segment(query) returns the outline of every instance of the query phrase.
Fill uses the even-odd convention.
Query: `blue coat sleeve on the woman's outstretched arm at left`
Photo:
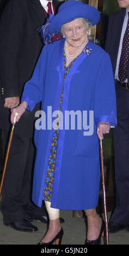
[[[28,103],[27,109],[32,111],[36,103],[42,101],[44,86],[45,86],[45,72],[47,65],[47,46],[41,51],[38,62],[36,63],[32,78],[24,85],[21,101]]]

